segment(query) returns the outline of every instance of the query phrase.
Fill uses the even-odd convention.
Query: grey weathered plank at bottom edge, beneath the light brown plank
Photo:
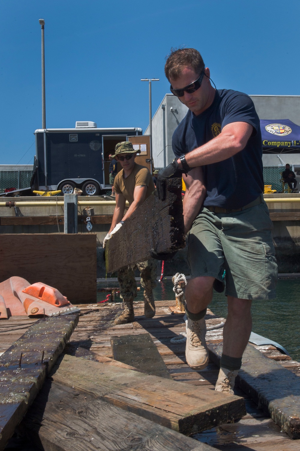
[[[209,445],[47,380],[18,428],[44,451],[209,451]]]

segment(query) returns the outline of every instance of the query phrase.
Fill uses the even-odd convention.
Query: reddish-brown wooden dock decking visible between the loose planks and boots
[[[185,343],[170,342],[171,338],[185,331],[183,314],[172,314],[171,311],[175,306],[175,300],[156,301],[155,304],[154,318],[145,318],[143,303],[136,302],[134,305],[136,321],[117,326],[114,325],[114,318],[121,311],[122,304],[81,305],[79,324],[71,337],[68,352],[76,355],[76,349],[81,347],[93,351],[100,361],[101,359],[107,361],[113,358],[112,336],[149,333],[173,380],[197,386],[203,385],[214,390],[218,367],[210,362],[202,371],[192,370],[186,364]],[[208,327],[217,325],[223,320],[209,310],[205,319]],[[0,352],[8,349],[33,322],[34,320],[23,317],[11,317],[9,320],[0,322]],[[222,328],[207,331],[206,339],[209,343],[217,344],[222,341],[222,334]],[[281,354],[274,346],[255,345],[255,348],[300,376],[300,363]],[[292,440],[286,433],[281,433],[273,420],[259,410],[243,391],[235,389],[235,393],[244,396],[247,414],[238,423],[222,424],[218,428],[196,434],[194,438],[223,451],[296,451],[300,449],[300,440]]]

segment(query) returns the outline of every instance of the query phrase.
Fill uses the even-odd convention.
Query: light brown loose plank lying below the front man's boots
[[[59,359],[51,376],[186,435],[245,414],[238,396],[68,355]]]

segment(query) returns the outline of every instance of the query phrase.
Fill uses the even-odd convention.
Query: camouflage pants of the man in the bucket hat
[[[118,271],[118,281],[120,285],[120,297],[123,298],[124,301],[136,297],[136,280],[134,278],[136,268],[141,272],[141,286],[145,289],[147,294],[149,293],[151,296],[152,290],[156,286],[157,260],[154,260],[153,258],[120,269]]]

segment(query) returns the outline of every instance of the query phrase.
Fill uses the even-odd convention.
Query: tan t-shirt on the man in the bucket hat
[[[134,201],[133,193],[136,186],[147,186],[145,199],[155,191],[150,171],[145,166],[135,163],[131,174],[126,179],[124,179],[123,174],[124,170],[122,169],[115,176],[114,190],[118,194],[123,194],[124,198],[129,202],[129,205]]]

